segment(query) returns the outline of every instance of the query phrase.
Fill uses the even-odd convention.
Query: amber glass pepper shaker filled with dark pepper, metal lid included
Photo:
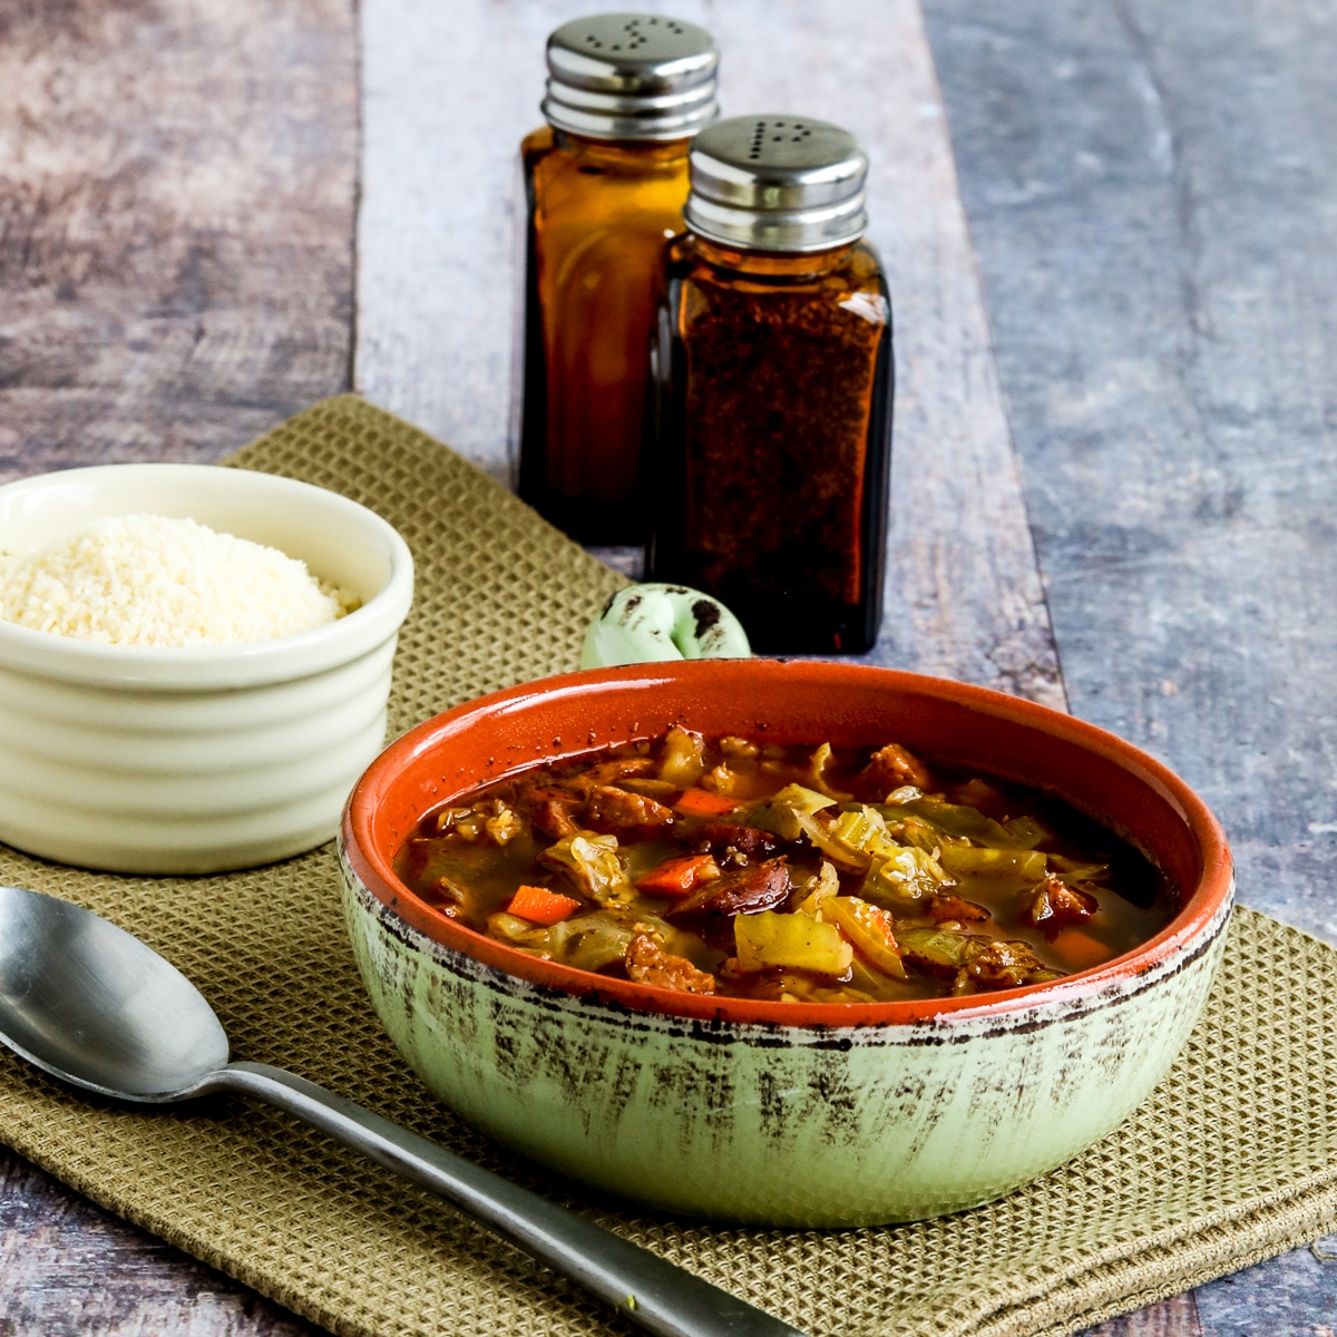
[[[868,650],[882,612],[892,312],[868,159],[804,116],[691,147],[654,350],[651,579],[722,599],[770,654]]]

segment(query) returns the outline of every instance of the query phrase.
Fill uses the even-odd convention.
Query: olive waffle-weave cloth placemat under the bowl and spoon
[[[393,731],[575,666],[622,578],[444,447],[352,396],[230,461],[344,492],[413,548]],[[203,878],[82,873],[0,846],[0,881],[146,939],[277,1063],[568,1202],[813,1337],[1059,1334],[1313,1239],[1337,1221],[1337,952],[1235,915],[1207,1013],[1122,1128],[1001,1202],[846,1231],[722,1230],[595,1201],[437,1106],[384,1038],[332,848]],[[634,1329],[435,1198],[267,1107],[143,1112],[0,1048],[0,1139],[88,1197],[349,1337]]]

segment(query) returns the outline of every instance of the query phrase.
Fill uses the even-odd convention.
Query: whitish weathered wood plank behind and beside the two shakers
[[[511,469],[516,152],[539,120],[547,35],[587,8],[361,7],[356,385],[497,477]],[[1063,706],[916,0],[667,8],[715,35],[726,115],[822,116],[872,158],[869,235],[890,275],[897,402],[888,607],[866,658]]]

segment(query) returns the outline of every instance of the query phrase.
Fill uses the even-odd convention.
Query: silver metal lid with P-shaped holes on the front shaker
[[[810,116],[731,116],[689,156],[683,217],[701,237],[743,250],[812,251],[868,227],[868,155],[840,126]]]

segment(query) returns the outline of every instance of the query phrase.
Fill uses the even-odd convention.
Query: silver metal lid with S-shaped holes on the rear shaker
[[[656,13],[600,13],[548,37],[543,115],[594,139],[686,139],[719,115],[719,52],[705,28]]]

